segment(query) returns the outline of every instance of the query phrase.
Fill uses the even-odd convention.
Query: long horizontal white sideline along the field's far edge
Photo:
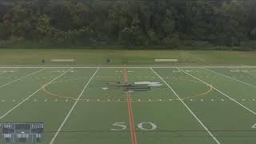
[[[50,69],[65,69],[65,68],[75,68],[75,69],[120,69],[122,66],[20,66],[20,67],[1,67],[0,68],[19,68],[19,69],[36,69],[36,68],[50,68]],[[127,66],[126,68],[130,69],[150,69],[150,68],[204,68],[204,67],[212,67],[212,68],[256,68],[256,66]]]

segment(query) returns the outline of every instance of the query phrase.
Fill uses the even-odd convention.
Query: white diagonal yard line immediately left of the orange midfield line
[[[95,70],[94,74],[90,77],[90,80],[86,83],[86,86],[82,89],[82,92],[79,94],[77,100],[74,102],[74,105],[71,107],[69,113],[66,115],[66,118],[64,119],[64,121],[62,122],[61,126],[59,126],[58,131],[54,134],[54,138],[51,139],[50,144],[54,143],[54,140],[58,137],[58,133],[62,130],[62,127],[65,125],[66,120],[70,117],[70,114],[72,113],[72,111],[74,110],[74,107],[77,105],[79,99],[82,97],[82,94],[84,93],[84,91],[86,90],[86,87],[89,85],[90,81],[94,78],[94,75],[98,72],[99,67],[97,70]]]

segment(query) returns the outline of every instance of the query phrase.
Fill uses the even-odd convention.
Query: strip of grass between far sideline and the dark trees
[[[74,58],[76,65],[256,65],[255,51],[0,49],[0,65],[38,65],[42,59],[48,65],[62,64],[50,62],[52,58]],[[155,58],[179,62],[156,63]]]

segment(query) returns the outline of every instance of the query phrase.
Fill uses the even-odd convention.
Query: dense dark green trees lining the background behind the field
[[[0,0],[0,45],[256,49],[255,14],[255,0]]]

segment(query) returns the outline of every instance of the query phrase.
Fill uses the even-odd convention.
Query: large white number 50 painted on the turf
[[[112,126],[114,126],[114,128],[110,130],[113,130],[113,131],[121,131],[121,130],[127,129],[126,122],[114,122]],[[155,130],[158,128],[158,126],[155,125],[153,122],[140,122],[138,123],[137,126],[139,129],[146,130],[146,131]]]

